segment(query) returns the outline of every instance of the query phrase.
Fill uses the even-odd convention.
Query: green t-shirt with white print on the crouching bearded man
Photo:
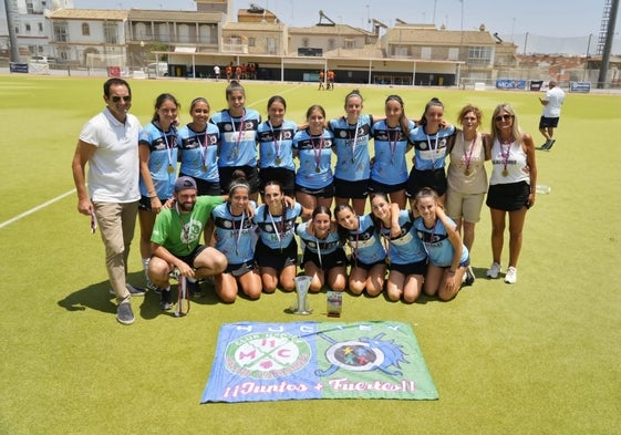
[[[190,255],[199,245],[211,210],[220,204],[220,196],[199,196],[192,213],[179,214],[175,208],[163,209],[155,219],[151,241],[168,249],[175,257]]]

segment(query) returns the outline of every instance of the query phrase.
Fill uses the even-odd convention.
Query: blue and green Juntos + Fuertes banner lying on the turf
[[[407,323],[228,323],[201,403],[308,398],[436,400]]]

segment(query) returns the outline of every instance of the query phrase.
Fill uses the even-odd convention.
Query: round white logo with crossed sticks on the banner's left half
[[[227,345],[226,367],[245,377],[271,380],[302,370],[310,361],[309,344],[287,333],[253,333]]]

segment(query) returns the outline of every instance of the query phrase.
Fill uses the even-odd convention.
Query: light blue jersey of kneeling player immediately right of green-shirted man
[[[257,207],[250,201],[252,207]],[[255,226],[248,215],[232,216],[228,203],[220,204],[211,211],[216,227],[216,249],[222,252],[229,265],[241,265],[255,258]]]

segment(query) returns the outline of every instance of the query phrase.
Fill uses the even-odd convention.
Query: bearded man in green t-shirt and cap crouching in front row
[[[190,293],[200,294],[197,281],[221,273],[227,267],[227,259],[220,251],[199,244],[211,210],[224,198],[197,197],[196,182],[190,177],[177,178],[174,190],[174,206],[157,215],[151,236],[148,277],[163,289],[159,301],[163,310],[173,308],[169,275],[174,269],[187,278]],[[207,229],[206,234],[211,232]]]

